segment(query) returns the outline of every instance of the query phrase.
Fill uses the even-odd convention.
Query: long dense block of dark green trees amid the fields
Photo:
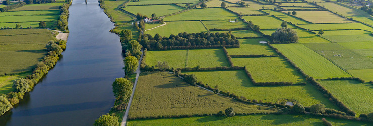
[[[167,47],[185,47],[202,46],[220,46],[220,45],[239,45],[239,41],[229,33],[179,33],[171,34],[168,38],[161,37],[159,34],[152,37],[149,34],[140,35],[138,42],[148,50],[164,50]],[[183,48],[180,48],[183,49]]]

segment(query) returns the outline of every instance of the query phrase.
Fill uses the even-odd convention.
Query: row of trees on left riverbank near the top
[[[57,27],[60,30],[68,30],[68,16],[69,16],[69,6],[71,5],[71,2],[68,2],[67,4],[63,4],[59,7],[59,19],[57,22]]]

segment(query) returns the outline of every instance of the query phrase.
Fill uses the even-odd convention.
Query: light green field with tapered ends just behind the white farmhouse
[[[153,13],[155,13],[157,16],[163,16],[184,10],[184,8],[176,5],[126,6],[126,8],[123,9],[135,15],[140,13],[148,17],[151,17]]]

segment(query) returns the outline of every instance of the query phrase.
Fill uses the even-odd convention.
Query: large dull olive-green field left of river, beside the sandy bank
[[[0,34],[13,34],[0,36],[0,64],[4,65],[0,68],[0,75],[31,71],[45,56],[45,45],[54,40],[46,29],[0,30]]]

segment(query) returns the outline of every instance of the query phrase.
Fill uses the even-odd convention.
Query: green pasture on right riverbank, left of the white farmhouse
[[[118,9],[125,1],[105,1],[105,8],[107,13],[114,18],[114,22],[117,25],[126,24],[128,21],[132,21],[135,17]]]

